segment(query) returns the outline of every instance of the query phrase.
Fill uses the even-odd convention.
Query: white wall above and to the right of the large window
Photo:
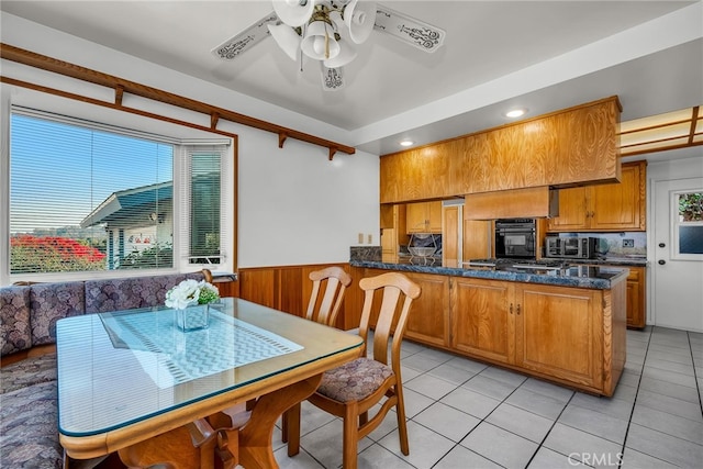
[[[249,97],[98,44],[5,13],[2,14],[1,26],[2,42],[7,44],[235,112],[245,113],[246,110],[260,109],[269,115],[268,120],[274,121],[270,116],[280,116],[280,120],[276,119],[277,124],[347,144],[345,132],[324,122],[257,102]],[[109,89],[100,89],[85,82],[71,82],[69,79],[8,60],[2,60],[2,75],[46,85],[60,83],[62,89],[108,101],[113,99],[113,91]],[[127,100],[131,101],[127,103]],[[72,108],[80,108],[81,113],[89,114],[83,116],[99,122],[120,123],[133,127],[142,125],[140,118],[133,115],[114,113],[104,108],[86,111],[85,104],[3,85],[0,115],[3,163],[7,163],[5,136],[10,102],[64,113],[70,113]],[[140,102],[130,97],[125,97],[125,105],[154,112],[164,112],[166,108],[158,103]],[[182,120],[193,120],[201,125],[209,125],[209,118],[202,114],[182,110],[168,112],[175,112]],[[256,116],[266,119],[261,114]],[[365,234],[365,241],[366,235],[371,234],[373,245],[380,243],[378,155],[364,152],[350,156],[336,154],[330,161],[327,149],[323,147],[289,138],[283,148],[278,148],[278,135],[226,121],[221,121],[217,129],[239,136],[239,267],[347,261],[349,246],[358,244],[358,233]],[[168,132],[168,126],[165,126],[164,132]],[[7,227],[7,178],[0,178],[0,215],[2,225]],[[0,236],[3,234],[2,231],[0,230]],[[5,236],[2,238],[7,239]],[[0,254],[7,255],[7,246],[2,246]],[[0,273],[2,283],[5,283],[5,276],[7,272]]]

